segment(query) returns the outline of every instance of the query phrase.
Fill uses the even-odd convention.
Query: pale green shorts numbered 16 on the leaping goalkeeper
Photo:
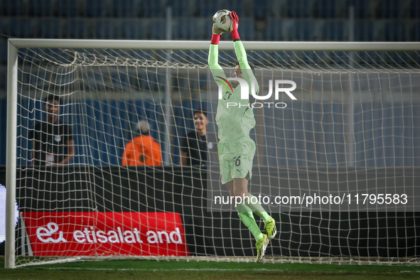
[[[217,144],[222,184],[235,178],[252,178],[255,143],[250,138]]]

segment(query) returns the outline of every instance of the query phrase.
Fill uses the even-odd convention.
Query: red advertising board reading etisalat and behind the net
[[[23,212],[35,256],[189,256],[173,212]]]

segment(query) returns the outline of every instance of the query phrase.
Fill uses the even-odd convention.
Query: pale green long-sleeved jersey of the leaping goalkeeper
[[[218,45],[211,44],[208,55],[208,64],[213,78],[217,86],[222,87],[222,98],[219,99],[216,113],[216,124],[219,129],[218,137],[221,142],[237,141],[244,137],[249,138],[249,131],[255,126],[254,112],[252,112],[251,104],[249,104],[249,95],[251,95],[252,84],[254,84],[254,93],[258,95],[259,85],[249,67],[247,53],[242,41],[235,41],[233,45],[242,75],[248,84],[247,99],[241,99],[241,85],[235,88],[230,87],[232,83],[227,81],[225,72],[218,63]]]

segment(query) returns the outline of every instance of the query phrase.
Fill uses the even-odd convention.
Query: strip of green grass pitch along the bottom
[[[115,260],[4,269],[4,257],[0,262],[0,279],[420,279],[415,265]]]

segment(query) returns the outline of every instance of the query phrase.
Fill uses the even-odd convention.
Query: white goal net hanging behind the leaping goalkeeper
[[[15,231],[7,215],[6,266],[254,262],[220,183],[210,43],[10,42],[6,187],[19,219]],[[244,45],[260,95],[271,92],[249,105],[249,191],[278,229],[264,262],[418,262],[419,45]],[[231,77],[232,43],[220,43],[219,63]],[[180,166],[198,146],[185,141],[198,109],[207,159]]]

